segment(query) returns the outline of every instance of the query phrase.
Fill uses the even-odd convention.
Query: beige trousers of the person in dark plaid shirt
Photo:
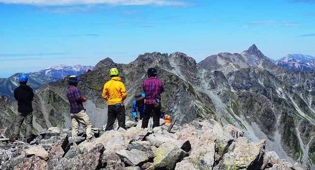
[[[77,138],[78,137],[78,132],[79,132],[79,124],[83,124],[86,126],[86,139],[92,138],[92,125],[90,122],[89,116],[85,113],[84,110],[81,110],[81,112],[73,114],[70,113],[71,116],[71,123],[72,123],[72,138]]]

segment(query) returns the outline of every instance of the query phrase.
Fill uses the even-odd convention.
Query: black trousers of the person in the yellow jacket
[[[116,117],[118,119],[118,128],[125,128],[126,129],[126,113],[125,113],[125,106],[115,106],[109,105],[108,106],[108,113],[107,113],[107,125],[105,131],[113,129],[113,125],[115,123]]]

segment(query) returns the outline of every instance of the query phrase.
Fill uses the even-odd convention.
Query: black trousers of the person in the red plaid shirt
[[[154,104],[146,104],[144,113],[143,113],[141,128],[148,128],[151,112],[153,113],[153,127],[152,128],[160,126],[161,109],[154,108]]]

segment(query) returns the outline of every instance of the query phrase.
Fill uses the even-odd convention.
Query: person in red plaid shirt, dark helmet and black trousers
[[[148,128],[148,123],[150,119],[150,113],[153,112],[153,127],[159,126],[159,118],[161,115],[161,108],[155,107],[156,102],[161,102],[161,93],[164,91],[164,86],[162,81],[156,78],[157,70],[155,68],[150,68],[147,71],[148,78],[143,82],[143,91],[145,94],[145,109],[142,119],[142,128]]]

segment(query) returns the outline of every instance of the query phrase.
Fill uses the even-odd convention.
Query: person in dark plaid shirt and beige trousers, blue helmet
[[[69,77],[69,89],[67,91],[67,98],[70,103],[70,116],[72,123],[72,138],[78,137],[79,123],[86,126],[86,140],[88,142],[92,141],[92,125],[89,116],[85,113],[83,108],[83,102],[86,101],[85,98],[81,97],[81,92],[79,90],[78,83],[79,79],[77,76],[72,75]]]

